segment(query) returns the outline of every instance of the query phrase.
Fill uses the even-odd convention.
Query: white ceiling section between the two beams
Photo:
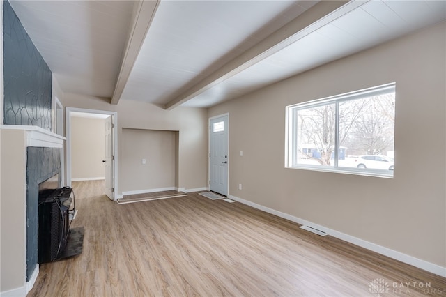
[[[161,1],[122,98],[165,104],[315,3]]]

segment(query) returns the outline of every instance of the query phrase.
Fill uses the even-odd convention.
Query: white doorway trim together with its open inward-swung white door
[[[102,167],[105,167],[103,172],[103,178],[105,178],[105,195],[109,199],[117,199],[117,126],[116,124],[116,112],[108,112],[94,109],[79,109],[79,108],[66,108],[66,138],[67,138],[67,166],[66,166],[66,178],[67,185],[71,186],[73,181],[73,155],[75,153],[76,147],[73,146],[73,128],[77,122],[75,119],[79,116],[87,119],[102,119],[104,125],[102,125],[102,140],[103,140],[103,160],[96,160],[101,162]],[[108,123],[108,125],[107,125]],[[88,144],[86,144],[88,145]],[[78,148],[79,149],[79,148]],[[102,158],[101,158],[102,159]],[[95,161],[95,162],[96,162]],[[103,166],[105,163],[105,166]]]

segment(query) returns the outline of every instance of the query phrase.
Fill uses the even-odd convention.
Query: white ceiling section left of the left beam
[[[10,1],[63,91],[111,97],[132,1]]]

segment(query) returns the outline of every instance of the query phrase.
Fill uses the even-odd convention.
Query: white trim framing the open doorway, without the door
[[[114,116],[114,129],[113,129],[113,151],[114,160],[112,162],[113,167],[113,200],[118,198],[118,112],[109,112],[107,110],[96,110],[96,109],[83,109],[76,107],[66,107],[66,183],[71,186],[71,114],[72,112],[82,112],[84,114],[105,114],[109,116]]]

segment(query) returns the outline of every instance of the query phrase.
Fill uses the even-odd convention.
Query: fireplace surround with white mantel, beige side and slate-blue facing
[[[25,125],[0,125],[0,132],[1,142],[8,144],[0,152],[0,218],[11,226],[0,234],[1,292],[26,296],[39,273],[38,184],[59,174],[64,185],[65,137]]]

